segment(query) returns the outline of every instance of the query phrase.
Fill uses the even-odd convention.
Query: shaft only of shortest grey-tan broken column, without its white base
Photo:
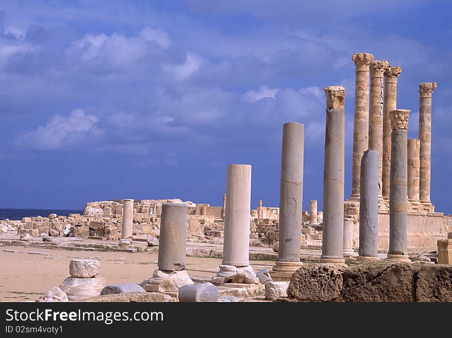
[[[185,270],[186,224],[187,205],[185,203],[162,204],[159,237],[159,270]]]

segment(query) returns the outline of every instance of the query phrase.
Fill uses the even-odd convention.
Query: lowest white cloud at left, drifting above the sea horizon
[[[16,140],[27,148],[52,150],[69,149],[99,138],[103,129],[96,126],[98,118],[75,109],[69,116],[54,115],[45,126],[37,127]]]

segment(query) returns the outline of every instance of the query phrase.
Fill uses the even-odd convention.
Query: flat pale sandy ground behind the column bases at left
[[[148,279],[157,269],[158,254],[1,247],[0,302],[35,301],[69,276],[72,258],[100,260],[99,276],[105,277],[109,285],[141,283]],[[186,257],[186,270],[191,276],[213,276],[220,264],[218,258]],[[270,269],[274,261],[251,261],[251,264],[256,271]]]

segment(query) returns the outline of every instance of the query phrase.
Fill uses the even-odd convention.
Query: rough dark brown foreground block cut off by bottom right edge
[[[416,302],[452,302],[452,266],[421,265],[416,274]]]

